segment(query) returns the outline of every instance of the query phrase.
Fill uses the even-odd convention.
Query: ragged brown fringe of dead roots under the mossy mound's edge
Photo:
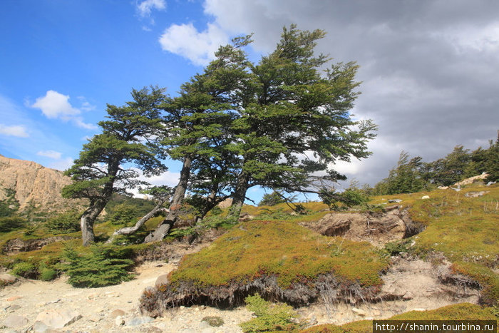
[[[165,309],[180,305],[204,304],[215,307],[235,307],[245,304],[248,295],[260,294],[274,302],[304,305],[326,300],[328,302],[372,301],[379,287],[363,287],[359,283],[339,280],[334,275],[319,275],[314,281],[293,282],[288,288],[279,286],[276,275],[262,275],[251,281],[234,280],[226,285],[203,286],[193,281],[148,287],[140,297],[140,311],[153,317]]]

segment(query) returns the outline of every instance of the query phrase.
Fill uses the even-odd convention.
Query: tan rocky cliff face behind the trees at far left
[[[28,208],[44,212],[61,211],[84,204],[83,200],[61,197],[61,188],[70,183],[71,178],[61,171],[0,155],[0,200],[5,200],[9,192],[14,192],[20,212]]]

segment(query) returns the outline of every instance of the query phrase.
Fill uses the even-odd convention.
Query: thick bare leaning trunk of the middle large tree
[[[184,164],[182,165],[182,170],[180,170],[180,180],[175,188],[175,193],[173,193],[172,203],[170,204],[170,212],[168,215],[160,222],[158,227],[151,232],[147,237],[145,237],[144,242],[158,242],[163,240],[168,232],[173,227],[178,217],[178,210],[182,207],[182,200],[185,198],[185,192],[187,191],[187,184],[189,183],[190,177],[190,165],[192,164],[192,158],[187,156],[184,159]]]

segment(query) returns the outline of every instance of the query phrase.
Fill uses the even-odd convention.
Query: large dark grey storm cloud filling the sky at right
[[[379,125],[374,154],[350,170],[361,183],[386,177],[401,150],[434,160],[458,144],[487,146],[499,129],[499,1],[208,0],[205,9],[230,34],[254,32],[264,53],[295,23],[327,32],[319,51],[359,63],[354,113]]]

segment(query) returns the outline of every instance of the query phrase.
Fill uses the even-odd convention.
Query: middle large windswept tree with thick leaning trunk
[[[182,162],[180,180],[170,203],[170,212],[147,238],[161,240],[175,224],[187,188],[190,203],[199,218],[229,197],[225,190],[230,154],[220,146],[227,142],[232,109],[245,99],[247,59],[242,47],[251,36],[236,38],[221,46],[203,73],[181,87],[180,96],[163,103],[165,130],[162,145],[165,155]]]

